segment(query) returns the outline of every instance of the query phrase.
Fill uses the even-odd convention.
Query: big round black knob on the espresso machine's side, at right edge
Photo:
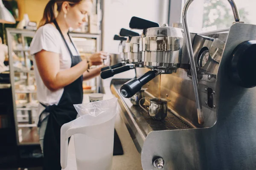
[[[256,41],[244,41],[232,52],[229,76],[236,84],[244,88],[256,86]]]

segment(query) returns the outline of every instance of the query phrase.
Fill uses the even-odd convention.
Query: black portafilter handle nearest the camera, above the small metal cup
[[[158,75],[157,70],[148,71],[137,79],[131,79],[121,86],[120,93],[125,98],[131,98],[142,86],[148,83],[151,79],[154,79]]]

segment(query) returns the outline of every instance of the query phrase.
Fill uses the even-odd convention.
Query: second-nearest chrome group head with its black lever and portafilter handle
[[[139,51],[139,40],[140,34],[137,32],[127,30],[122,28],[119,33],[120,37],[127,38],[125,44],[122,43],[122,65],[116,64],[110,67],[104,68],[101,72],[101,78],[107,79],[113,77],[115,74],[119,74],[130,69],[134,69],[135,77],[136,74],[136,67],[143,67],[142,63],[142,52]],[[120,46],[119,46],[120,49]],[[120,53],[121,54],[121,53]]]

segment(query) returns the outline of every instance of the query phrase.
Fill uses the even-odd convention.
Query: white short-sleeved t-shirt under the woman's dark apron
[[[66,40],[73,56],[80,55],[69,40]],[[71,56],[62,40],[61,34],[52,24],[46,24],[38,28],[30,45],[31,55],[41,50],[50,51],[59,54],[60,71],[71,67]],[[51,61],[49,61],[51,62]],[[37,85],[38,101],[44,105],[58,105],[64,88],[57,91],[50,91],[45,85],[38,72],[37,63],[34,58],[35,80]]]

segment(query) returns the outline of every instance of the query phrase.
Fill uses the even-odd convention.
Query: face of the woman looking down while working
[[[84,22],[88,22],[88,15],[92,8],[91,0],[82,0],[79,4],[70,7],[67,11],[67,24],[73,29],[81,27]]]

